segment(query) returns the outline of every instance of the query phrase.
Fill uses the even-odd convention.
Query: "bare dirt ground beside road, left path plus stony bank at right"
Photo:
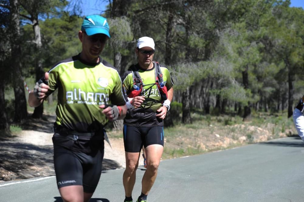
[[[22,125],[23,130],[14,137],[0,139],[0,182],[55,175],[52,144],[55,118],[49,115],[45,120],[29,120],[28,123]],[[175,128],[176,136],[164,138],[165,149],[178,151],[183,148],[208,152],[247,143],[263,142],[284,137],[288,133],[294,134],[294,131],[287,130],[286,133],[273,136],[273,128],[272,125],[264,128],[243,124],[223,128],[210,125],[203,129],[202,127],[187,128],[183,131],[185,128],[177,127]],[[179,135],[178,131],[182,131],[183,135]],[[247,135],[240,131],[246,131]],[[105,142],[103,170],[125,167],[123,139],[111,138],[111,135],[109,139],[112,148]],[[142,166],[141,155],[139,162]]]

